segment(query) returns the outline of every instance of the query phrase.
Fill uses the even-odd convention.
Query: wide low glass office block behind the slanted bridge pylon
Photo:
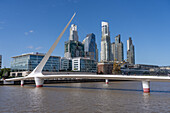
[[[12,57],[10,76],[27,76],[41,62],[45,54],[28,53]],[[50,56],[43,72],[48,74],[58,72],[60,69],[60,57]]]

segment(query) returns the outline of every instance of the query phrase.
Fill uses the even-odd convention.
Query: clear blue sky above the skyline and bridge
[[[101,21],[107,21],[111,42],[121,34],[125,58],[126,41],[132,37],[137,64],[170,65],[169,0],[0,0],[3,67],[10,67],[12,56],[46,53],[74,12],[79,41],[94,33],[99,53]],[[64,56],[68,38],[69,29],[53,55]]]

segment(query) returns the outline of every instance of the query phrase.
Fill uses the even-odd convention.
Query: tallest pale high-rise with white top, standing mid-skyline
[[[110,61],[110,31],[108,22],[102,22],[101,61]]]

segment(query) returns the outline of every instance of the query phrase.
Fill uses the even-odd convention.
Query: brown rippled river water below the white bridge
[[[0,86],[0,112],[122,113],[170,112],[170,83],[102,82]]]

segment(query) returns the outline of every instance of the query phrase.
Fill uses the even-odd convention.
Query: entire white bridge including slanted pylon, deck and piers
[[[114,80],[135,80],[135,81],[142,81],[142,86],[143,86],[143,91],[144,93],[149,93],[150,92],[150,81],[165,81],[165,82],[170,82],[170,77],[165,77],[165,76],[134,76],[134,75],[43,75],[42,70],[48,61],[49,57],[51,56],[52,52],[56,48],[58,42],[60,41],[61,37],[63,36],[64,32],[66,31],[67,27],[70,25],[71,21],[73,20],[74,15],[70,19],[70,21],[67,23],[66,27],[64,30],[61,32],[59,37],[56,39],[54,44],[51,46],[49,51],[46,53],[42,61],[38,64],[38,66],[26,77],[18,77],[18,78],[10,78],[4,80],[4,84],[7,84],[10,81],[21,81],[21,86],[24,85],[24,80],[26,79],[34,79],[36,87],[43,87],[44,79],[47,78],[86,78],[86,79],[105,79],[106,84],[109,83],[109,79],[114,79]]]

